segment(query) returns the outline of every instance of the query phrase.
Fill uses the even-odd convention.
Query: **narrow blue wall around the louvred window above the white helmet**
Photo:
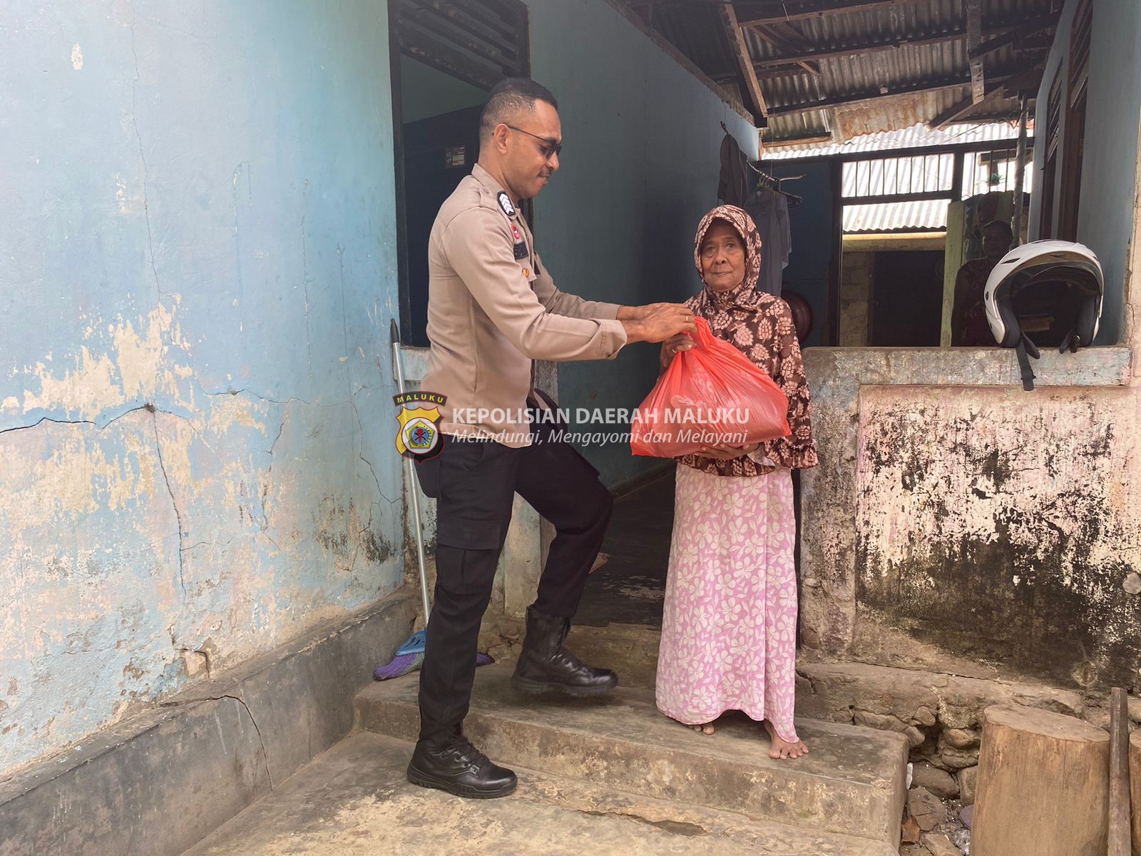
[[[1058,25],[1053,48],[1038,90],[1035,127],[1043,129],[1034,144],[1034,186],[1043,186],[1045,171],[1046,100],[1057,74],[1062,96],[1069,74],[1070,27],[1077,0],[1068,0]],[[1130,237],[1133,232],[1134,175],[1138,127],[1141,116],[1141,3],[1093,0],[1090,37],[1090,82],[1085,114],[1085,151],[1077,240],[1098,253],[1106,277],[1106,302],[1099,345],[1111,345],[1125,336],[1125,278]],[[1066,115],[1062,112],[1058,163],[1065,162]],[[1059,170],[1061,165],[1059,165]],[[1041,194],[1030,202],[1030,235],[1042,223]],[[1054,223],[1058,221],[1057,200]]]

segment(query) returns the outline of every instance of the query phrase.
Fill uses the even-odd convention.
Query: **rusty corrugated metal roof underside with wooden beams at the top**
[[[1052,0],[984,0],[982,38],[995,27],[1022,22],[1051,11]],[[795,9],[795,0],[785,8]],[[634,8],[641,8],[637,5]],[[736,92],[739,72],[717,3],[707,0],[654,3],[653,26],[693,59],[706,74]],[[738,18],[747,19],[746,3],[738,3]],[[784,64],[761,66],[758,74],[770,111],[766,137],[791,139],[831,135],[840,142],[876,131],[929,122],[970,92],[966,19],[961,0],[912,0],[856,11],[834,10],[817,17],[798,18],[764,27],[745,27],[744,35],[754,63],[820,50],[843,50],[853,46],[900,45],[880,50],[815,58],[812,71]],[[1015,51],[1010,45],[988,54],[984,70],[989,80],[1020,73],[1038,55]],[[962,81],[956,83],[955,81]],[[946,86],[933,91],[879,97],[922,86]],[[782,107],[807,106],[815,102],[866,96],[872,100],[830,105],[780,113]],[[1013,99],[993,100],[972,118],[1010,116]]]

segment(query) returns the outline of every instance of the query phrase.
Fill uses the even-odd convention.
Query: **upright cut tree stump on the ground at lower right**
[[[982,714],[972,856],[1104,856],[1109,735],[1061,713]]]

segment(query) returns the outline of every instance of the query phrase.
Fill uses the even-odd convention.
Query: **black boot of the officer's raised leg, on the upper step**
[[[511,686],[524,693],[560,689],[568,695],[601,695],[618,685],[609,669],[593,669],[563,647],[570,630],[568,619],[527,609],[527,638],[511,676]]]

